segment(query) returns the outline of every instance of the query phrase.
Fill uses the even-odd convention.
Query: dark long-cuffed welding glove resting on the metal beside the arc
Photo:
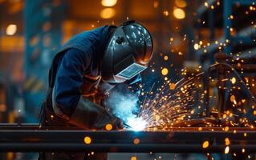
[[[79,98],[78,105],[71,114],[69,123],[85,129],[102,130],[107,124],[112,124],[113,130],[123,128],[123,124],[119,118],[114,117],[102,106],[99,106],[82,96]]]

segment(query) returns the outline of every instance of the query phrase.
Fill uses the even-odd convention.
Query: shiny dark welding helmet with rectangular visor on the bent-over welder
[[[101,65],[104,82],[120,83],[145,70],[152,58],[152,37],[135,21],[124,22],[112,34]]]

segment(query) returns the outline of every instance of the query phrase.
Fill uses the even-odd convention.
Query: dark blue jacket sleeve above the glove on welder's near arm
[[[63,55],[55,77],[53,107],[59,114],[71,115],[80,98],[83,73],[91,62],[89,54],[70,49]],[[58,113],[57,113],[58,114]]]

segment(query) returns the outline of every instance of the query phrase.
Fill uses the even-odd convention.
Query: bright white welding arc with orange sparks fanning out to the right
[[[203,42],[200,41],[199,44],[202,45]],[[128,118],[127,124],[132,127],[132,130],[172,130],[175,126],[193,126],[191,120],[205,118],[206,116],[203,104],[205,103],[206,96],[210,96],[209,98],[213,100],[217,99],[216,95],[209,95],[211,94],[210,90],[203,89],[202,80],[205,78],[205,72],[200,73],[200,70],[197,69],[197,74],[189,75],[187,74],[188,70],[184,68],[181,70],[181,73],[186,75],[187,78],[181,78],[178,82],[173,82],[173,80],[171,81],[165,76],[168,74],[168,71],[168,68],[161,68],[161,73],[166,78],[165,81],[162,84],[159,82],[159,85],[156,85],[158,82],[154,82],[150,90],[143,91],[144,99],[143,102],[140,102],[140,114],[137,117]],[[230,70],[228,74],[231,74],[231,71],[233,70]],[[238,117],[238,112],[246,114],[247,110],[242,109],[241,106],[248,105],[248,102],[250,102],[246,98],[238,99],[239,97],[237,97],[236,99],[236,94],[233,92],[241,89],[238,85],[242,83],[242,79],[234,75],[230,77],[227,75],[221,79],[209,76],[208,79],[209,82],[217,85],[215,86],[217,89],[228,91],[230,102],[232,102],[231,105],[234,108],[223,110],[220,113],[220,110],[212,106],[209,110],[209,116],[211,114],[219,114],[218,118],[224,118],[226,125],[222,126],[222,124],[202,121],[198,130],[201,131],[202,127],[222,126],[223,130],[228,132],[231,126],[238,126],[238,123],[244,126],[250,126],[247,118],[240,118],[239,122],[232,120],[234,117]],[[228,89],[227,86],[221,86],[217,82],[230,82],[236,85],[232,85]],[[256,114],[254,107],[251,108],[253,109],[253,114]],[[236,134],[236,130],[233,130],[233,132]],[[226,146],[230,145],[229,138],[225,139],[225,144]]]

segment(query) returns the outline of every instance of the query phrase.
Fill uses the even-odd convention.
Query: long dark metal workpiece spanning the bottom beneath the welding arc
[[[0,151],[136,152],[136,153],[256,153],[252,128],[174,127],[169,131],[87,131],[38,126],[0,127]],[[226,144],[229,138],[230,144]],[[204,142],[209,146],[203,147]]]

